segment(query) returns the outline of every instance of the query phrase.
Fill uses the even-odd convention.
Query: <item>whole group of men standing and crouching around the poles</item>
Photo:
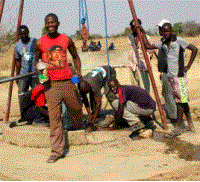
[[[31,87],[28,98],[32,101],[32,105],[35,104],[36,108],[39,108],[38,112],[45,118],[48,118],[47,122],[50,124],[50,142],[52,146],[51,155],[47,160],[48,163],[54,163],[65,156],[64,113],[66,114],[67,112],[69,115],[72,129],[74,130],[86,129],[88,132],[91,132],[98,129],[98,117],[102,105],[102,88],[105,90],[104,93],[115,111],[115,115],[113,120],[105,125],[101,125],[101,128],[106,128],[109,125],[112,125],[112,129],[126,126],[132,132],[137,132],[143,128],[155,129],[151,115],[156,111],[156,102],[149,94],[149,82],[144,89],[139,84],[120,85],[116,78],[115,69],[109,65],[94,68],[83,76],[81,60],[74,42],[70,37],[58,32],[60,22],[57,15],[53,13],[48,14],[45,17],[44,23],[47,34],[39,40],[29,37],[29,30],[26,26],[20,27],[20,40],[15,45],[15,59],[16,74],[38,71],[37,65],[40,61],[46,65],[48,80],[43,84],[39,83],[38,76],[21,79],[17,84],[19,87],[19,100],[22,100],[24,95],[29,93],[29,87]],[[171,110],[167,112],[168,117],[173,116],[173,119],[177,119],[176,130],[170,134],[170,136],[173,136],[180,134],[179,126],[182,122],[183,113],[186,114],[189,129],[194,130],[189,111],[189,98],[184,71],[188,71],[191,67],[197,48],[183,39],[175,37],[170,23],[163,23],[159,27],[163,39],[158,45],[150,44],[145,31],[141,26],[138,28],[142,32],[146,48],[159,49],[159,66],[162,65],[160,66],[162,68],[167,66],[165,72],[163,70],[160,71],[162,72],[164,85],[163,92],[165,90],[167,95],[165,97],[166,110],[170,94],[169,88],[171,88],[173,93],[173,97],[170,98],[171,100],[174,99],[177,105],[177,110],[174,111],[177,118],[171,115]],[[135,60],[135,62],[132,60],[131,64],[136,64],[138,67],[141,65],[140,71],[144,72],[143,77],[145,78],[143,82],[146,83],[148,70],[143,58],[138,54],[140,43],[137,40],[138,35],[133,22],[131,22],[131,28],[132,34],[129,36],[129,39],[132,53],[134,54],[132,58]],[[185,48],[190,49],[192,55],[188,66],[184,68],[182,54]],[[74,84],[71,80],[74,73],[67,62],[67,50],[73,58],[75,74],[79,79],[78,84]],[[135,76],[135,69],[132,71]],[[166,85],[164,80],[166,82],[168,80],[168,85]],[[21,101],[21,103],[23,102]],[[83,104],[88,113],[86,121],[83,121]],[[64,106],[66,111],[63,112]],[[23,110],[23,107],[20,109]],[[22,120],[25,120],[24,115]]]

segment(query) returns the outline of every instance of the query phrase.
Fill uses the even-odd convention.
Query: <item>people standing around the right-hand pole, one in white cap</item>
[[[138,43],[138,34],[136,31],[136,28],[138,28],[141,31],[146,49],[159,50],[156,57],[158,59],[158,71],[161,73],[162,95],[165,99],[163,109],[165,110],[168,119],[175,126],[175,129],[166,136],[173,137],[181,135],[184,131],[183,114],[185,114],[188,122],[188,128],[186,129],[194,132],[195,128],[188,104],[189,91],[187,71],[191,68],[192,63],[195,60],[198,52],[197,47],[186,42],[183,38],[177,37],[173,33],[172,24],[167,20],[162,20],[158,24],[159,34],[162,36],[161,42],[159,44],[152,44],[141,26],[141,20],[138,19],[138,23],[138,27],[135,27],[133,21],[131,21],[132,34],[129,36],[129,42],[132,47],[131,70],[136,81],[138,82],[137,72],[135,71],[137,65],[141,72],[144,87],[148,92],[150,91],[148,70],[144,58],[140,56],[141,45]],[[191,51],[191,57],[187,66],[184,64],[185,49]],[[149,59],[151,59],[150,53],[148,53],[148,56]],[[139,84],[140,83],[138,82],[138,85]]]

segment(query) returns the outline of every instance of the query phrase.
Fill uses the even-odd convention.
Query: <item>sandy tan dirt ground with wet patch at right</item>
[[[198,47],[198,38],[187,38]],[[117,67],[117,77],[121,84],[130,84],[128,68],[128,47],[126,39],[114,39],[116,51],[110,53],[110,63]],[[153,38],[154,42],[158,38]],[[106,51],[81,53],[80,42],[76,42],[82,60],[83,73],[92,67],[106,64]],[[103,43],[103,48],[105,44]],[[189,53],[186,53],[186,60]],[[12,50],[0,57],[0,76],[10,75]],[[89,62],[89,64],[88,64]],[[91,64],[90,64],[91,63]],[[157,72],[157,61],[151,61],[155,82],[161,102],[161,83]],[[27,148],[6,144],[2,141],[3,130],[0,121],[0,181],[15,180],[75,180],[75,181],[199,181],[200,180],[200,105],[199,75],[200,56],[198,54],[188,72],[189,102],[196,133],[185,133],[174,139],[165,139],[163,133],[155,132],[152,138],[130,139],[128,136],[114,142],[99,145],[70,146],[65,159],[49,165],[45,160],[50,153],[46,148]],[[9,83],[0,85],[0,119],[4,119]],[[154,97],[153,89],[151,95]],[[105,106],[105,99],[104,105]],[[19,118],[17,86],[14,83],[10,120]],[[160,120],[156,111],[157,119]],[[40,165],[38,165],[40,164]],[[85,170],[87,169],[87,170]]]

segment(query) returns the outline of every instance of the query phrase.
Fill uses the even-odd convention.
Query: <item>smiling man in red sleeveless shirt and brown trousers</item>
[[[79,79],[81,75],[81,61],[77,54],[74,42],[70,37],[58,33],[60,22],[57,15],[50,13],[45,17],[45,28],[47,34],[36,42],[36,61],[39,59],[46,63],[49,80],[44,83],[45,98],[48,104],[50,119],[50,142],[52,146],[48,163],[54,163],[59,158],[64,157],[65,135],[62,126],[62,108],[61,102],[64,101],[67,110],[70,113],[73,126],[76,129],[82,128],[82,103],[78,96],[77,87],[72,84],[71,78],[73,73],[67,63],[67,50],[72,55],[74,66]],[[52,59],[52,51],[57,51],[56,56]],[[59,64],[55,64],[59,63]]]

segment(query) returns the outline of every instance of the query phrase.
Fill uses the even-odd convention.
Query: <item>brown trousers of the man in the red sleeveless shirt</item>
[[[45,83],[45,98],[50,119],[51,155],[62,156],[65,148],[65,135],[62,124],[62,105],[64,101],[74,128],[82,127],[82,103],[75,84],[71,80],[48,81]]]

